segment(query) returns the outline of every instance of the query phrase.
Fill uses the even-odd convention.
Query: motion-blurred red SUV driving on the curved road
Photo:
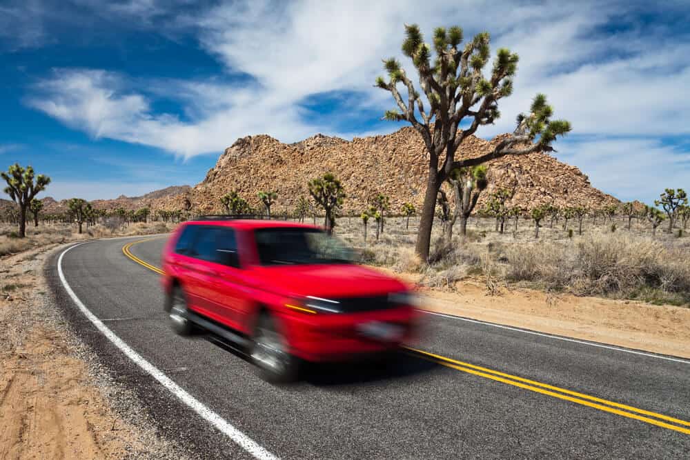
[[[189,221],[164,249],[165,308],[179,334],[202,328],[248,348],[271,381],[293,379],[300,360],[395,350],[413,334],[413,294],[352,254],[314,226]]]

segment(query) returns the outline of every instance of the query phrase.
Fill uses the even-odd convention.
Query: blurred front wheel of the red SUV
[[[259,377],[270,383],[288,383],[297,379],[299,360],[287,350],[283,334],[268,313],[259,316],[254,331],[250,357]]]

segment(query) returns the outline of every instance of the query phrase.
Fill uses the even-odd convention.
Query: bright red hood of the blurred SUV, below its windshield
[[[406,290],[393,277],[353,264],[256,267],[253,274],[263,289],[287,296],[326,299],[362,297]]]

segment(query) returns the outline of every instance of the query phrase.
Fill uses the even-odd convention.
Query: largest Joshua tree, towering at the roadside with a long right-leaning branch
[[[426,261],[438,190],[454,169],[477,166],[505,155],[553,150],[551,143],[555,138],[571,128],[567,121],[552,121],[553,109],[543,94],[537,94],[529,114],[517,117],[517,129],[513,134],[503,137],[490,152],[480,157],[456,160],[455,153],[462,141],[480,126],[492,124],[500,116],[498,101],[513,92],[517,54],[505,48],[498,50],[491,77],[486,78],[482,69],[490,57],[488,33],[477,34],[464,48],[460,48],[460,27],[436,28],[432,48],[424,43],[417,25],[405,26],[405,30],[402,52],[412,59],[419,74],[428,112],[422,96],[395,58],[384,60],[388,81],[378,77],[376,86],[391,92],[400,110],[389,110],[384,118],[408,121],[424,140],[428,176],[415,251]],[[404,93],[400,93],[398,83],[404,86],[407,101],[404,101]],[[460,126],[466,128],[458,130]]]

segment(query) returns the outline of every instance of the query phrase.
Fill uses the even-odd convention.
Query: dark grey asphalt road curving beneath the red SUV
[[[135,240],[72,248],[61,262],[64,278],[117,337],[277,457],[690,457],[690,362],[429,315],[417,348],[489,370],[405,354],[389,368],[312,366],[298,383],[271,386],[213,337],[172,333],[159,275],[122,251]],[[164,241],[131,252],[160,266]],[[59,308],[115,378],[135,389],[161,432],[195,456],[251,457],[115,348],[68,296],[57,265],[56,256],[48,277]]]

